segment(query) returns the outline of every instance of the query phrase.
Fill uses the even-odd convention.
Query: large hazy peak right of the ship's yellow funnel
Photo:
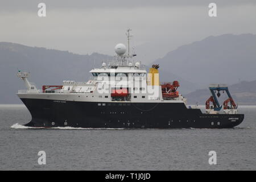
[[[154,64],[201,88],[210,83],[253,81],[256,80],[256,35],[209,36],[168,52]]]

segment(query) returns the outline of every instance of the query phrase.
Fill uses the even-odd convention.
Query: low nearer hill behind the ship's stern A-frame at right
[[[229,92],[232,98],[238,105],[256,105],[256,80],[242,81],[238,84],[229,86]],[[222,94],[222,92],[220,92]],[[210,97],[209,89],[199,89],[189,94],[185,94],[188,104],[195,105],[205,104],[205,101]],[[220,97],[220,104],[226,100],[228,96],[224,94]]]

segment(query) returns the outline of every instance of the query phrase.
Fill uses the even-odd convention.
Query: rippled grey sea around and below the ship
[[[240,113],[233,129],[31,129],[22,126],[31,119],[24,105],[0,105],[0,169],[255,170],[256,106]]]

